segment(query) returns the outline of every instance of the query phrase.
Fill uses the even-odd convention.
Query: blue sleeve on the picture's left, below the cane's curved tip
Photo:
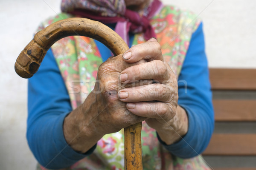
[[[28,83],[27,140],[38,162],[49,169],[68,167],[93,152],[74,151],[64,139],[63,122],[72,111],[57,63],[49,50]]]

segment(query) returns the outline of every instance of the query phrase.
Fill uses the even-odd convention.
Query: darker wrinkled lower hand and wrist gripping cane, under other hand
[[[145,60],[127,63],[120,54],[99,66],[93,91],[64,120],[64,137],[74,150],[85,153],[105,134],[117,132],[146,119],[128,111],[126,103],[121,102],[118,97],[118,91],[123,88],[151,83],[150,80],[141,80],[124,85],[119,81],[119,74],[125,68],[142,62]]]

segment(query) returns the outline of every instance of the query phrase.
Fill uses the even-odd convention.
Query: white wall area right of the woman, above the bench
[[[202,18],[210,67],[256,68],[255,0],[164,0]]]

